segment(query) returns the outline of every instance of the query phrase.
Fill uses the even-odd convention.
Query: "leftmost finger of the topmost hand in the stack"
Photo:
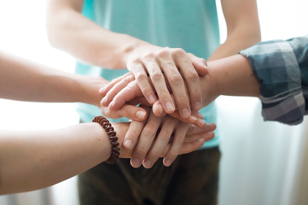
[[[154,89],[152,88],[151,84],[148,80],[148,67],[147,65],[144,65],[140,63],[139,61],[131,61],[127,63],[128,70],[131,70],[131,72],[134,74],[135,79],[137,81],[137,84],[139,88],[141,89],[141,92],[146,97],[148,102],[150,104],[153,104],[157,99],[154,92]]]

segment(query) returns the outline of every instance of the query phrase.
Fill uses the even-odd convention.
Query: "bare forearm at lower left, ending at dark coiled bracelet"
[[[0,131],[0,194],[31,191],[83,173],[110,157],[98,123],[52,131]]]

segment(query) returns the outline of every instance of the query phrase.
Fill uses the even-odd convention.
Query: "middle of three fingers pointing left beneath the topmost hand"
[[[116,84],[113,84],[113,87],[109,89],[109,91],[106,93],[106,95],[103,97],[103,99],[100,101],[100,104],[102,106],[108,106],[110,102],[114,99],[114,97],[123,89],[125,88],[130,82],[134,81],[134,75],[132,74],[126,74],[126,77],[124,78],[118,78],[116,80]],[[122,93],[124,97],[128,97],[128,94],[123,92]],[[124,104],[124,103],[123,103]]]

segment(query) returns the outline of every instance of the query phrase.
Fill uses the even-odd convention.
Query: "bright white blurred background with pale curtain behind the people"
[[[226,28],[219,10],[221,41]],[[262,40],[308,34],[307,0],[257,0]],[[74,59],[45,33],[45,0],[0,0],[0,49],[73,72]],[[221,132],[219,205],[307,205],[308,118],[297,126],[263,122],[256,98],[217,99]],[[16,116],[21,120],[13,123]],[[43,117],[44,116],[44,117]],[[70,103],[0,99],[0,129],[56,129],[78,123]],[[78,205],[76,177],[52,187],[0,196],[0,205]]]

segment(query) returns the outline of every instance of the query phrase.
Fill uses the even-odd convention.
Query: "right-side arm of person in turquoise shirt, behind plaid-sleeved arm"
[[[227,26],[227,38],[208,59],[237,54],[261,40],[256,0],[221,0]]]

